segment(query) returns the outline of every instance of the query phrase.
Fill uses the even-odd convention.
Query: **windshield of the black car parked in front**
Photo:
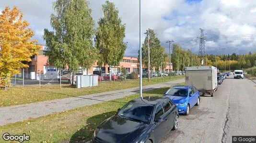
[[[119,110],[118,116],[135,122],[150,123],[152,111],[152,106],[128,102]]]

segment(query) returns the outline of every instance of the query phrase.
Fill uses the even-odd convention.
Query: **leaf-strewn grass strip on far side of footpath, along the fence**
[[[164,78],[151,79],[147,82],[147,79],[143,79],[143,85],[156,84],[160,82],[174,81],[177,79],[183,79],[184,76],[172,76]],[[59,85],[42,85],[39,88],[38,85],[31,86],[12,86],[8,91],[0,90],[0,107],[18,105],[32,102],[48,101],[53,99],[62,99],[73,96],[88,95],[99,92],[115,91],[127,88],[133,88],[139,86],[139,80],[126,80],[124,82],[99,82],[97,87],[88,87],[76,89],[75,85],[63,84],[62,89],[59,89]]]

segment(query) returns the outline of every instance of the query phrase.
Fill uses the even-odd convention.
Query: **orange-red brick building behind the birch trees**
[[[32,61],[26,63],[27,65],[29,65],[29,67],[24,68],[25,78],[38,80],[39,71],[41,72],[41,79],[53,79],[58,77],[58,70],[54,65],[49,64],[48,58],[47,56],[45,56],[45,51],[47,51],[47,47],[45,45],[41,45],[39,54],[33,56],[31,58]],[[111,68],[112,73],[119,72],[121,67],[126,68],[128,72],[139,72],[138,58],[123,57],[123,60],[120,61],[118,66]],[[171,71],[172,69],[173,67],[171,66]],[[169,65],[167,65],[164,71],[169,72]],[[109,66],[99,66],[97,65],[97,63],[95,63],[93,67],[88,70],[88,72],[83,71],[83,74],[97,74],[97,72],[109,73]],[[21,72],[19,76],[22,76],[22,74],[23,73]]]

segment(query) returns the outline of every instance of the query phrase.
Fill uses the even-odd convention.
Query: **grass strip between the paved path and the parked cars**
[[[143,96],[163,96],[163,93],[168,89],[169,87],[145,92]],[[92,138],[94,129],[99,123],[115,114],[117,109],[125,103],[138,97],[139,94],[135,94],[113,101],[0,126],[0,134],[26,133],[30,135],[30,143],[85,142]],[[3,142],[2,138],[0,138],[1,142]]]

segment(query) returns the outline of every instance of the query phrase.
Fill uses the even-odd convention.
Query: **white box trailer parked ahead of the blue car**
[[[213,66],[186,67],[186,85],[195,86],[204,95],[208,93],[213,96],[217,90],[217,68]]]

